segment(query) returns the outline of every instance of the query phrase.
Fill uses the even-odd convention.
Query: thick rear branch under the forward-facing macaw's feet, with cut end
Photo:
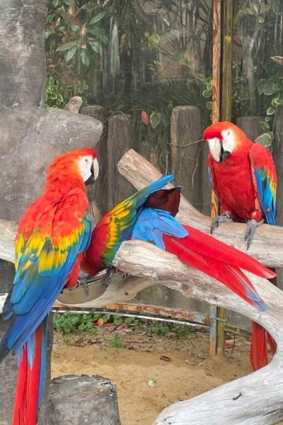
[[[144,157],[130,149],[120,159],[118,169],[122,176],[125,176],[133,186],[140,189],[146,184],[158,179],[161,173],[146,161]],[[168,185],[170,187],[170,185]],[[197,211],[183,196],[181,197],[180,210],[177,218],[180,222],[192,225],[202,232],[209,233],[211,218]],[[224,223],[214,231],[214,236],[233,245],[241,251],[246,251],[244,235],[246,225],[239,223]],[[248,249],[248,254],[258,259],[261,263],[270,267],[283,266],[283,228],[278,226],[260,226],[256,232],[252,244]]]

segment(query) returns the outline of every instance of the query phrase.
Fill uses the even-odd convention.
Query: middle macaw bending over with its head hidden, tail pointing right
[[[175,254],[180,261],[216,278],[243,300],[265,310],[265,302],[241,268],[265,278],[275,273],[238,249],[190,226],[180,225],[174,217],[178,212],[180,188],[162,189],[171,180],[173,176],[161,177],[104,215],[93,229],[91,244],[83,254],[83,271],[95,275],[111,267],[122,242],[137,239]]]

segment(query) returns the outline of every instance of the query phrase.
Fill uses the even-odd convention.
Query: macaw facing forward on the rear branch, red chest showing
[[[209,125],[204,139],[209,144],[209,179],[224,212],[213,220],[212,231],[227,220],[247,222],[245,240],[249,246],[256,227],[263,222],[275,225],[277,176],[272,155],[228,122]],[[266,339],[275,353],[272,336],[252,322],[250,362],[254,370],[268,363]]]

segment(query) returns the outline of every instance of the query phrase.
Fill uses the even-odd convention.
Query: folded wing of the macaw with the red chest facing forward
[[[249,150],[255,193],[269,225],[275,225],[277,177],[272,155],[260,143]]]

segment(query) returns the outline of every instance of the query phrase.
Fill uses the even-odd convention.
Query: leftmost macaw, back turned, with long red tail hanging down
[[[96,151],[77,149],[54,159],[42,195],[25,211],[16,235],[16,275],[4,305],[10,327],[0,362],[18,354],[12,425],[35,425],[43,394],[47,316],[76,259],[91,239],[86,184],[98,176]]]

